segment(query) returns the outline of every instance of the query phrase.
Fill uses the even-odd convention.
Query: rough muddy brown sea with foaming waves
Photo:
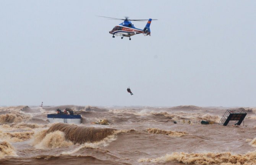
[[[65,108],[81,124],[49,122]],[[228,109],[244,122],[219,125]],[[255,126],[254,107],[3,106],[0,165],[256,165]]]

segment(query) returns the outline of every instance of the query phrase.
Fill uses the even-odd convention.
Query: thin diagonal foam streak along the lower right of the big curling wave
[[[134,130],[114,130],[112,135],[107,136],[106,138],[104,138],[101,141],[96,141],[93,143],[84,143],[82,145],[79,145],[78,148],[76,148],[73,151],[70,152],[62,152],[63,155],[71,155],[74,154],[76,152],[79,152],[80,150],[84,149],[84,148],[98,148],[100,146],[108,146],[109,143],[111,143],[112,141],[117,140],[117,135],[120,133],[128,133],[130,131],[134,131]]]

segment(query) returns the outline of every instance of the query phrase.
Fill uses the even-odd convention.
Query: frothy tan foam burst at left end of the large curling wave
[[[71,146],[73,143],[66,141],[65,134],[62,131],[47,133],[47,130],[43,130],[35,135],[32,145],[37,149],[45,149]]]

